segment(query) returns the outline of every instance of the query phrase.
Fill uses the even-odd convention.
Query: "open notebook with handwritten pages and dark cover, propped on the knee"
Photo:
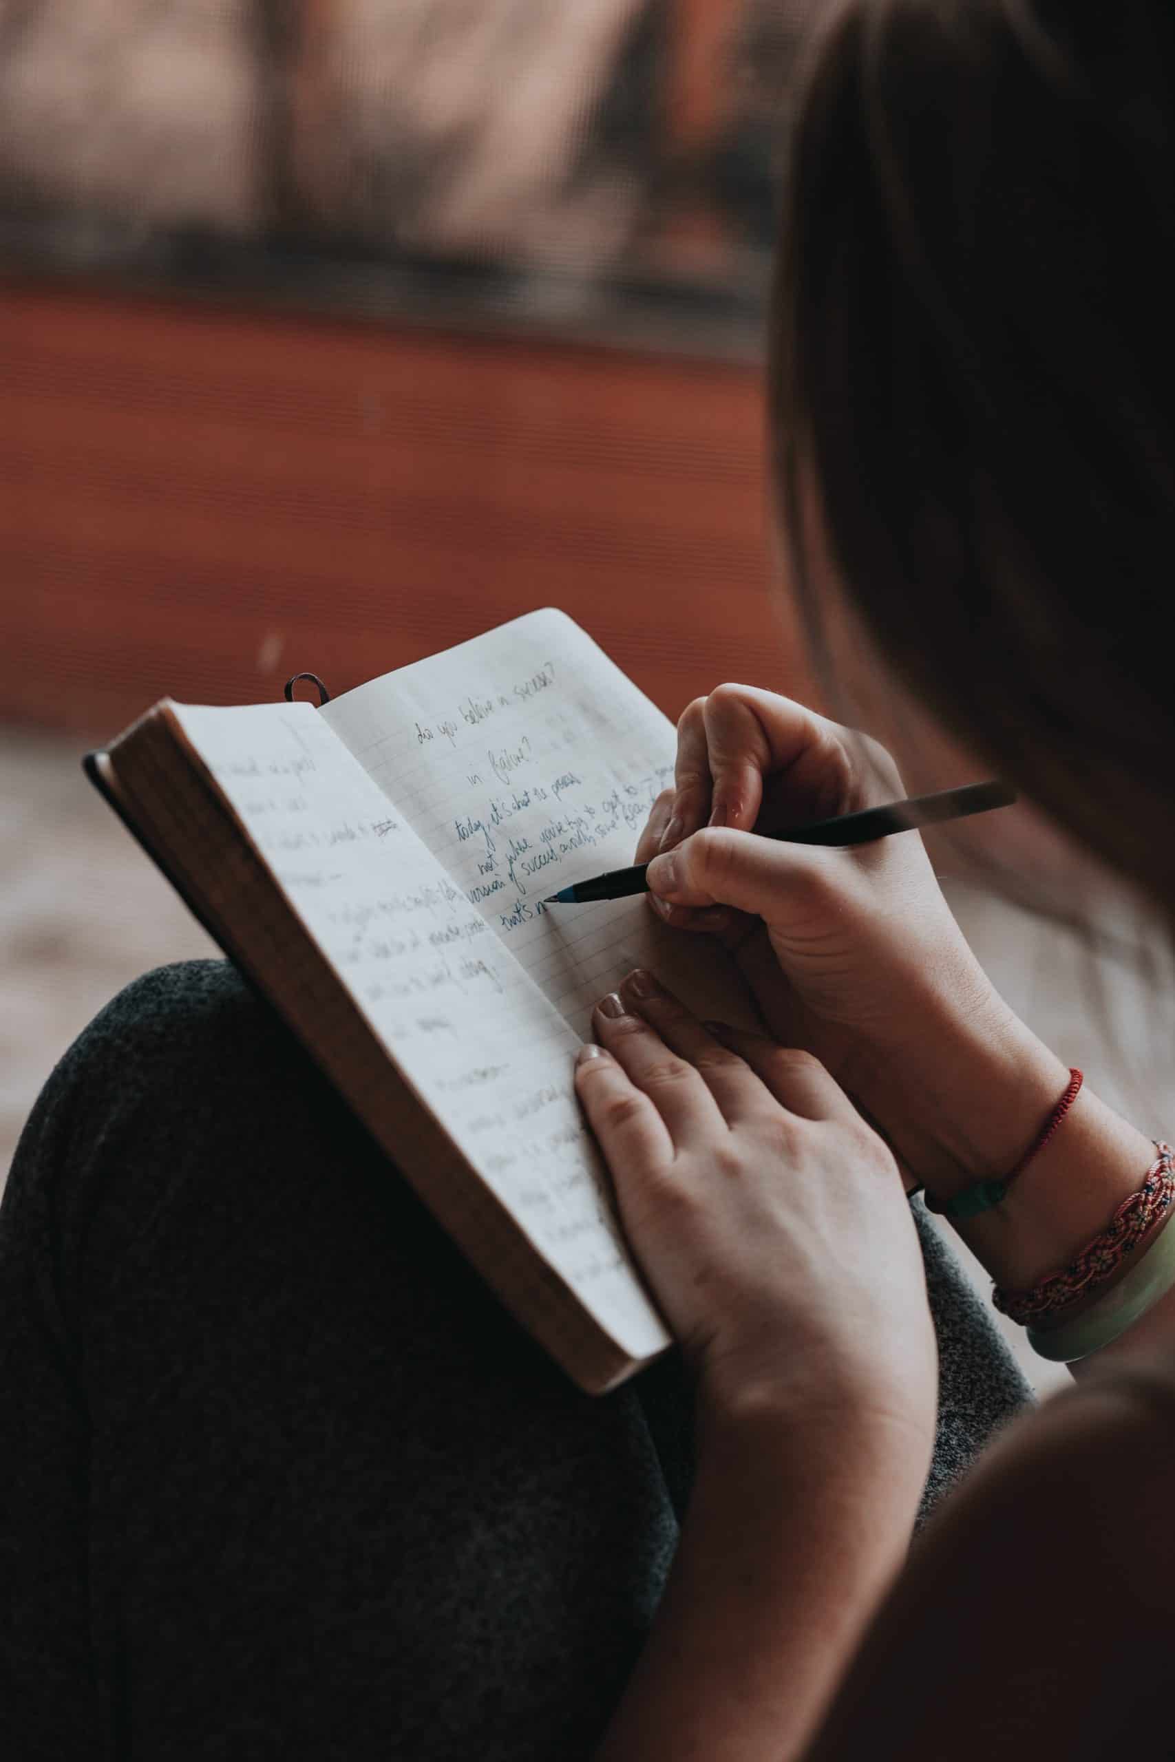
[[[673,754],[666,717],[544,610],[322,708],[164,700],[86,759],[502,1302],[592,1392],[669,1343],[574,1098],[592,1004],[650,966],[701,1015],[754,1020],[724,953],[643,899],[541,904],[632,862]]]

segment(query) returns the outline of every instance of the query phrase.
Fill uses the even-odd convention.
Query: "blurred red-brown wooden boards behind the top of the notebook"
[[[543,604],[671,715],[802,689],[757,374],[0,285],[11,721],[338,692]]]

